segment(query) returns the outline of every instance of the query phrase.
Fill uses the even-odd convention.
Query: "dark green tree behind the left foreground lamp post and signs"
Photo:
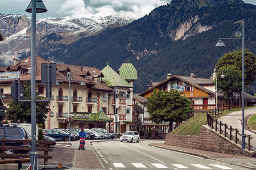
[[[30,82],[23,82],[25,88],[24,99],[31,99],[31,87]],[[40,96],[36,92],[36,99],[46,99],[46,97]],[[44,123],[47,118],[47,113],[50,111],[48,108],[49,102],[36,103],[36,123]],[[6,110],[7,120],[11,122],[20,122],[31,124],[31,103],[15,102],[11,101],[8,104],[9,108]]]

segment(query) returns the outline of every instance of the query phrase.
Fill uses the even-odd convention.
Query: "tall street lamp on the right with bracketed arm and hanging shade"
[[[222,41],[223,39],[242,39],[242,154],[243,154],[243,149],[245,148],[245,22],[243,22],[240,25],[240,27],[241,26],[242,26],[242,33],[239,31],[236,31],[233,33],[233,35],[230,38],[220,38],[216,44],[216,47],[225,46],[224,42]],[[237,38],[233,38],[235,34]]]

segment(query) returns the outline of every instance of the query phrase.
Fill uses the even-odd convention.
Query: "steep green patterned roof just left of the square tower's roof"
[[[110,87],[133,87],[125,79],[123,79],[117,72],[115,72],[112,67],[107,65],[104,69],[101,70],[104,74],[102,80]]]

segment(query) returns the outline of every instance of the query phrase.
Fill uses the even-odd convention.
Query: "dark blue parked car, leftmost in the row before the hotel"
[[[61,140],[65,142],[69,141],[69,134],[64,133],[59,129],[43,129],[43,132],[44,132],[44,135],[55,138],[56,140]],[[71,136],[71,141],[73,141],[72,136]]]

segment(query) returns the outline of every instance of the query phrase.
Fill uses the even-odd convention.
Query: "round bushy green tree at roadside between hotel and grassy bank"
[[[147,112],[150,113],[150,120],[156,124],[169,122],[170,128],[172,122],[180,124],[188,120],[191,117],[189,113],[193,112],[190,106],[191,101],[188,100],[188,97],[181,96],[177,90],[156,92],[154,89],[153,94],[147,100]]]

